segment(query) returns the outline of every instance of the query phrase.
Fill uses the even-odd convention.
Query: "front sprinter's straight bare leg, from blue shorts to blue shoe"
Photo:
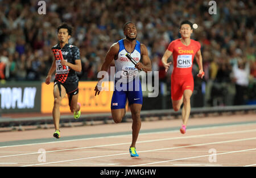
[[[137,142],[138,136],[139,136],[139,130],[141,130],[141,104],[131,104],[131,118],[133,119],[133,140],[131,142],[130,147],[135,147],[135,144]]]

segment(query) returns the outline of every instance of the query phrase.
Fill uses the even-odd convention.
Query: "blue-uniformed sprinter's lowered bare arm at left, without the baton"
[[[119,44],[118,43],[112,44],[112,46],[109,48],[109,51],[106,54],[105,61],[101,67],[101,71],[108,71],[109,66],[110,66],[110,64],[112,64],[112,61],[113,61],[115,55],[117,55],[118,51],[119,51]],[[98,81],[98,84],[95,86],[95,89],[94,89],[95,96],[97,94],[100,94],[101,81],[104,77],[105,76],[102,76],[100,78],[100,80]]]

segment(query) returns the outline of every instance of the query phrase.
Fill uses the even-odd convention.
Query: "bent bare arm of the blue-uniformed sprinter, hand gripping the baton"
[[[148,57],[147,47],[144,44],[141,44],[141,56],[142,56],[142,63],[137,63],[135,65],[135,68],[139,70],[143,69],[143,71],[145,72],[152,71],[151,61],[150,61],[150,58]]]

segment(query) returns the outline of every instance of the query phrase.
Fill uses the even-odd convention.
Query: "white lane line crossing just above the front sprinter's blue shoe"
[[[216,135],[226,135],[226,134],[241,134],[241,133],[250,133],[256,131],[256,129],[252,130],[242,130],[242,131],[231,131],[231,132],[225,132],[225,133],[214,133],[214,134],[202,134],[202,135],[192,135],[192,136],[177,136],[174,138],[163,138],[163,139],[153,139],[153,140],[144,140],[139,141],[138,143],[147,143],[147,142],[159,142],[159,141],[165,141],[165,140],[176,140],[176,139],[188,139],[188,138],[200,138],[204,136],[216,136]],[[151,133],[148,133],[151,134]],[[81,147],[81,148],[68,148],[68,149],[62,149],[62,150],[53,150],[53,151],[46,151],[45,153],[50,152],[59,152],[59,151],[71,151],[71,150],[82,150],[87,148],[98,148],[98,147],[108,147],[108,146],[119,146],[119,145],[125,145],[130,144],[130,142],[126,143],[114,143],[114,144],[104,144],[104,145],[98,145],[98,146],[90,146],[90,147]],[[137,151],[138,152],[138,151]],[[30,152],[27,154],[17,154],[17,155],[6,155],[6,156],[0,156],[0,158],[7,158],[7,157],[13,157],[13,156],[23,156],[23,155],[33,155],[33,154],[40,154],[41,152]]]

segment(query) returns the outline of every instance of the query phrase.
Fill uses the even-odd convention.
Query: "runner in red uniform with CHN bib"
[[[192,65],[195,56],[199,65],[197,77],[204,77],[203,59],[200,51],[201,45],[199,42],[190,39],[192,32],[191,22],[188,20],[181,22],[181,38],[172,41],[162,57],[162,62],[167,72],[171,65],[171,62],[167,63],[167,60],[173,55],[174,70],[171,76],[172,107],[175,111],[178,111],[181,104],[183,104],[181,112],[183,125],[180,128],[182,134],[185,134],[187,129],[187,121],[191,111],[190,98],[194,89]]]

